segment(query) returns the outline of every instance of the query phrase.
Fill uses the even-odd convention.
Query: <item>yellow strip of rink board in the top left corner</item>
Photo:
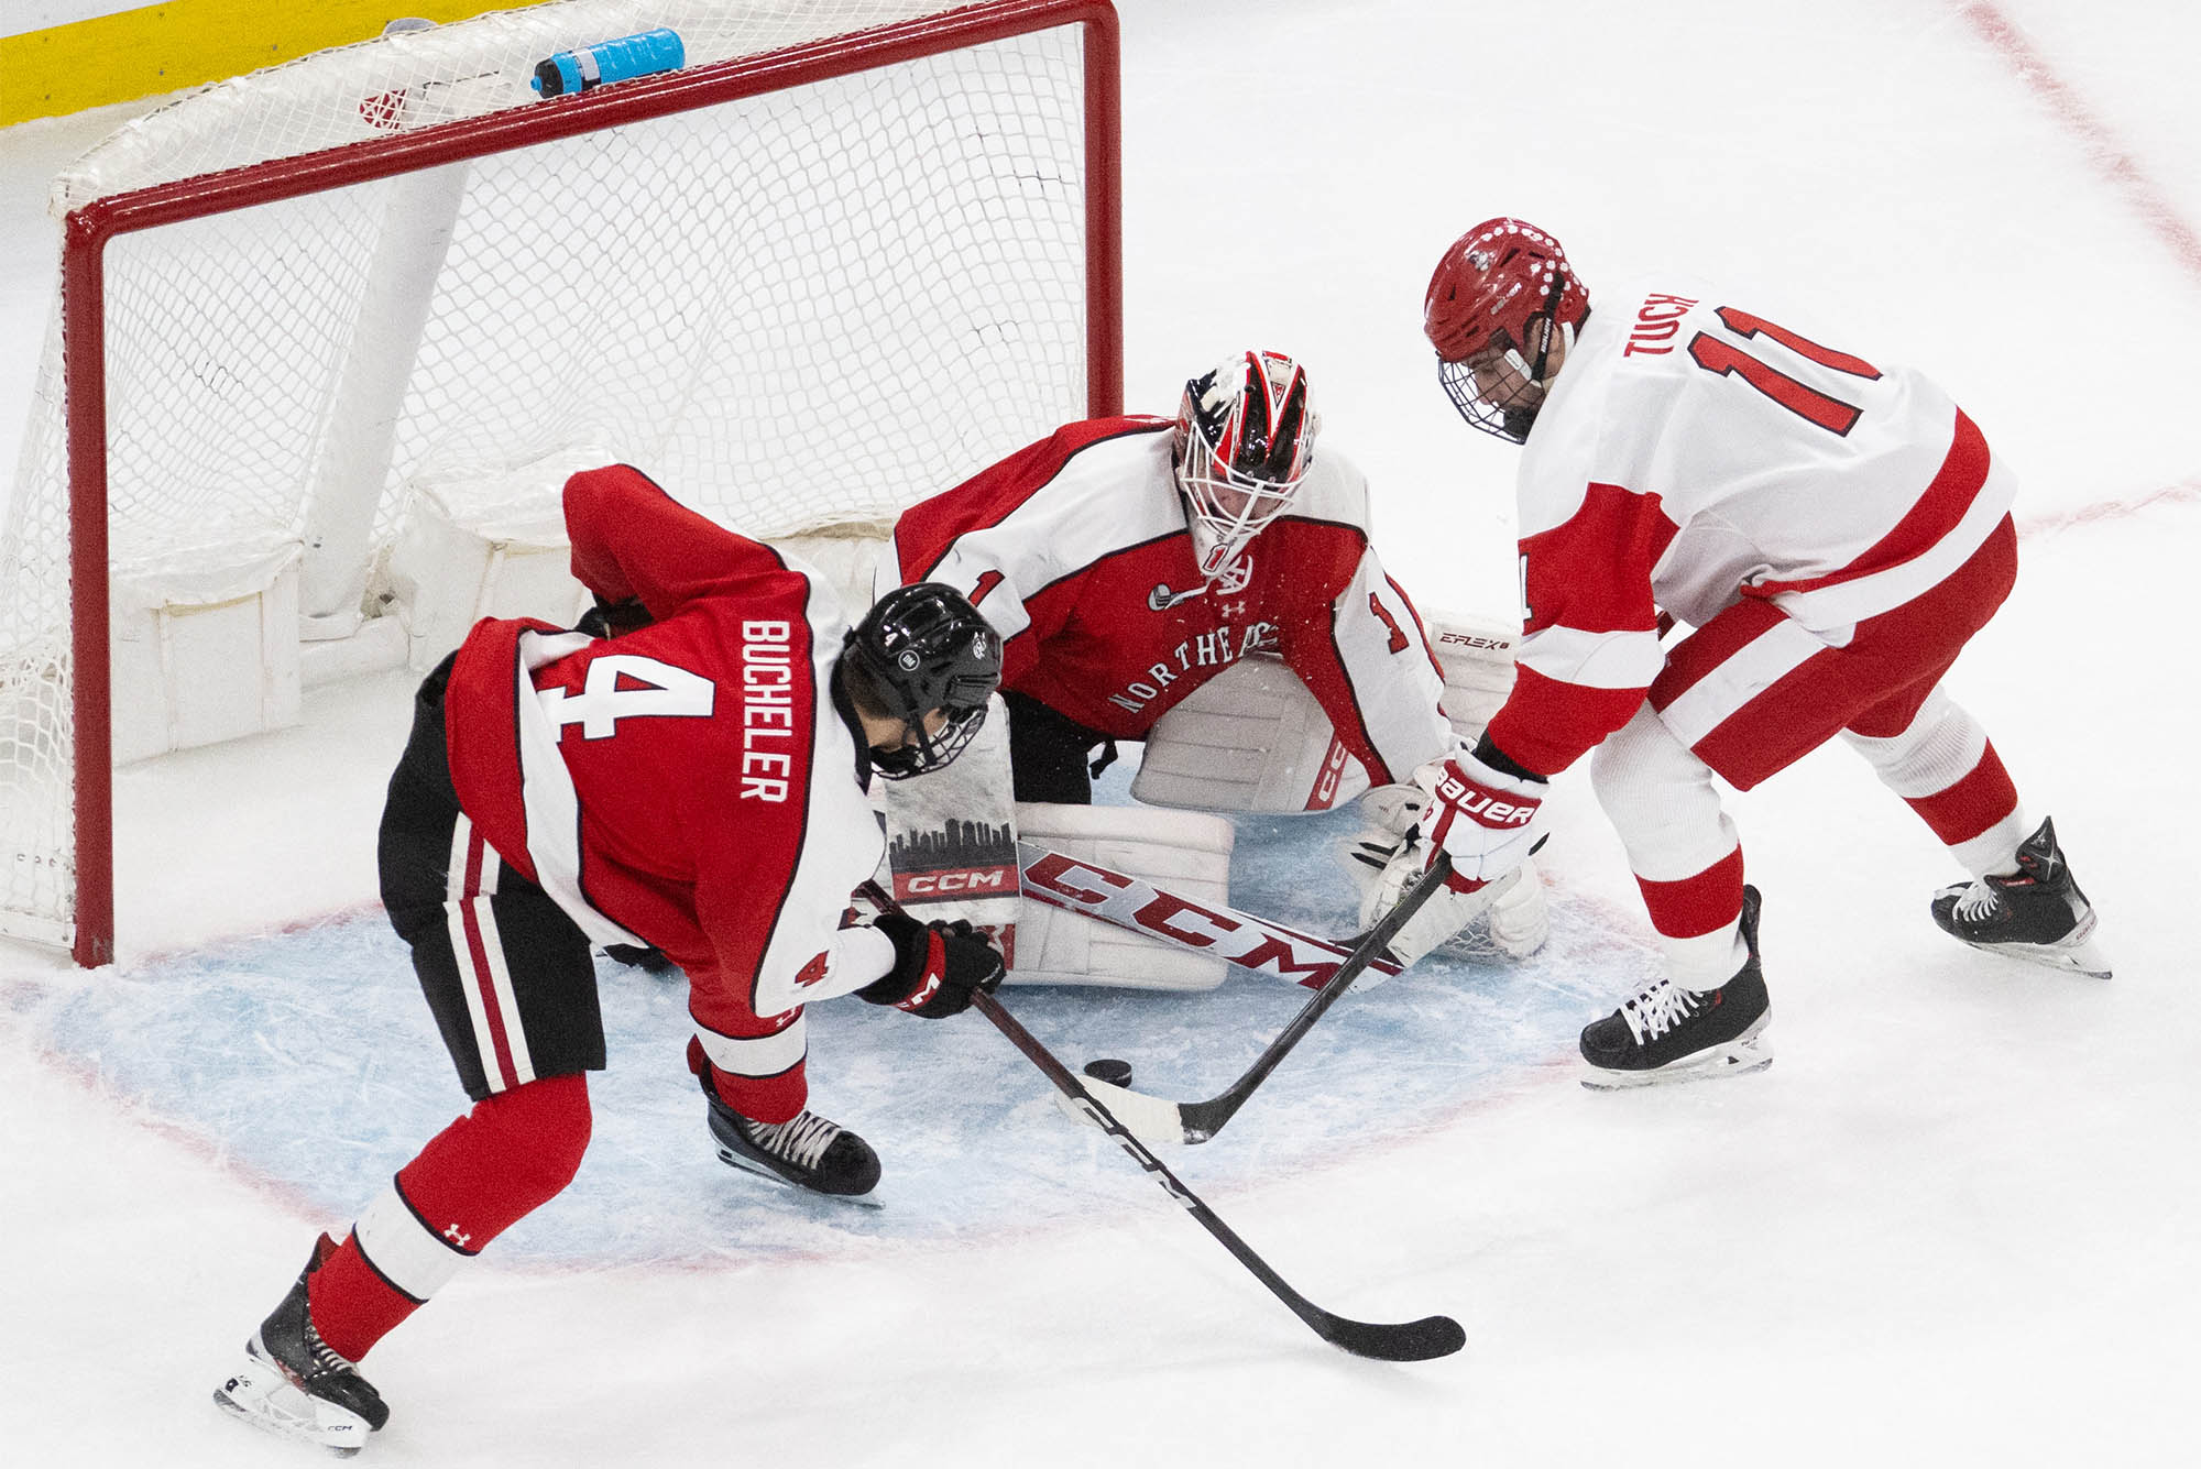
[[[398,15],[464,20],[513,0],[167,0],[0,35],[0,128],[176,92],[381,35]]]

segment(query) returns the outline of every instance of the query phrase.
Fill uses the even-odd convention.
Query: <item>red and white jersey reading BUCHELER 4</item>
[[[460,807],[590,939],[663,948],[698,1003],[777,1016],[885,974],[891,943],[841,928],[885,847],[823,578],[625,464],[566,482],[566,528],[574,576],[654,622],[478,622],[445,693]]]

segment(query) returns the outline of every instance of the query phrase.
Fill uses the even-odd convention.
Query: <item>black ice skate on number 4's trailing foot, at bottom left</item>
[[[359,1368],[313,1328],[306,1278],[335,1251],[326,1234],[315,1242],[297,1284],[244,1344],[244,1363],[213,1390],[213,1401],[253,1427],[348,1458],[390,1421],[390,1407]]]

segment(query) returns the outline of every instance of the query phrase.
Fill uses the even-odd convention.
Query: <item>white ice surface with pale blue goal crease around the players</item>
[[[1468,1330],[1459,1357],[1387,1368],[1307,1335],[975,1018],[821,1007],[819,1102],[883,1144],[885,1205],[751,1188],[702,1144],[678,1001],[614,974],[583,1177],[376,1348],[396,1418],[368,1454],[2192,1462],[2201,1001],[2170,919],[2201,820],[2201,15],[1123,0],[1123,20],[1131,402],[1171,407],[1248,339],[1299,354],[1424,603],[1512,598],[1512,451],[1444,405],[1417,317],[1486,213],[1558,231],[1591,288],[1677,264],[1928,365],[2025,484],[2018,592],[1952,686],[2056,814],[2117,979],[1941,939],[1924,899],[1946,858],[1820,752],[1732,803],[1765,891],[1772,1071],[1585,1093],[1572,1031],[1640,972],[1644,924],[1572,772],[1552,862],[1572,948],[1349,1001],[1230,1133],[1171,1155],[1316,1302]],[[0,466],[51,292],[44,178],[125,114],[0,132]],[[458,1106],[372,921],[275,932],[372,902],[401,693],[319,693],[308,730],[123,774],[121,974],[0,948],[7,1462],[313,1458],[207,1392],[313,1229]],[[1272,866],[1239,902],[1336,926],[1318,840],[1252,831]],[[1072,1058],[1129,1053],[1142,1086],[1204,1095],[1294,996],[1239,976],[1010,1001]]]

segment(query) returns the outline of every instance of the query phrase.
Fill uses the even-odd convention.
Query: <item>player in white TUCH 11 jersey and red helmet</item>
[[[1941,928],[2106,976],[2054,827],[1941,691],[2016,576],[1985,438],[1921,374],[1717,292],[1602,301],[1552,235],[1499,218],[1444,253],[1424,306],[1453,405],[1523,444],[1527,598],[1512,695],[1422,776],[1426,829],[1497,877],[1545,781],[1596,750],[1664,976],[1583,1031],[1591,1084],[1770,1064],[1759,893],[1715,776],[1750,789],[1838,734],[1972,873],[1932,899]],[[1662,649],[1664,618],[1693,631]]]

